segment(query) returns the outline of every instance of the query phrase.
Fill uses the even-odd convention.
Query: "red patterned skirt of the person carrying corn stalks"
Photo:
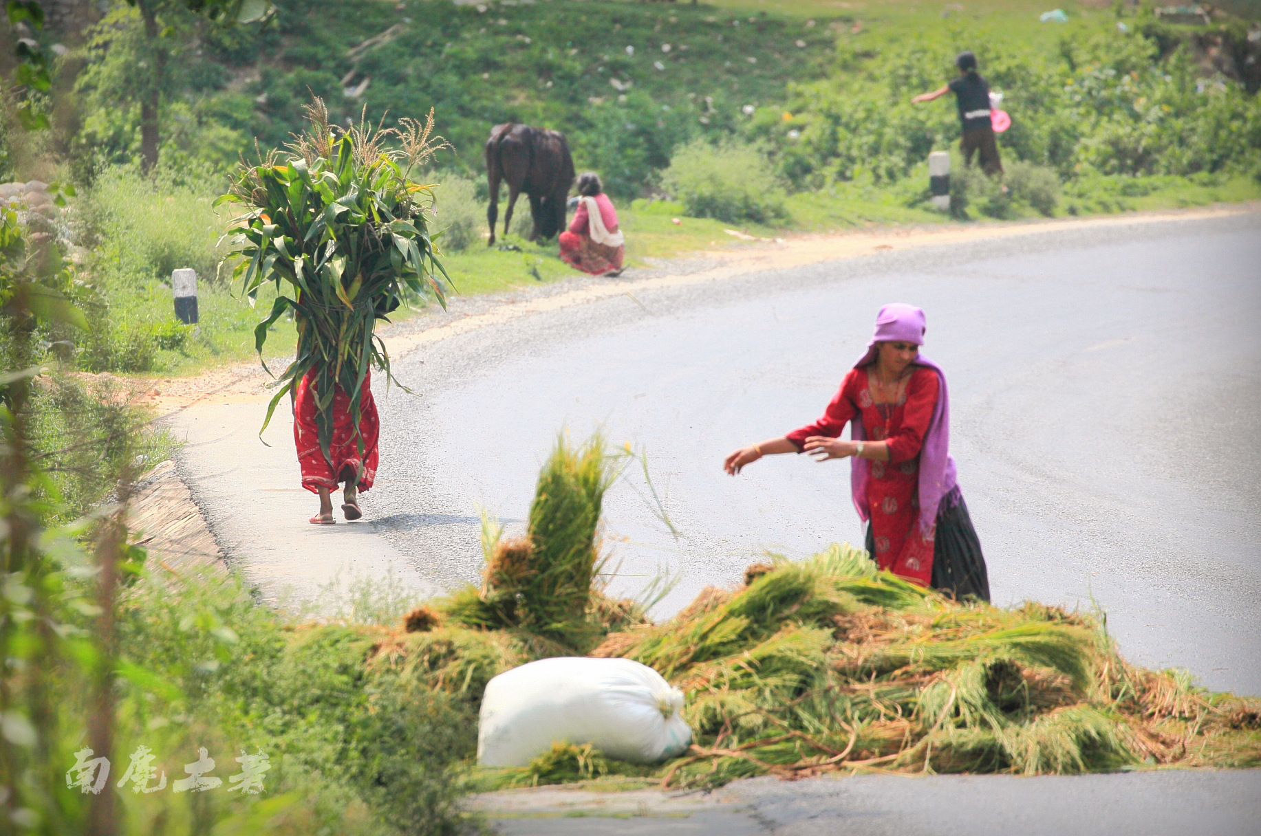
[[[354,438],[354,416],[351,415],[351,398],[337,387],[333,395],[333,443],[324,458],[319,449],[319,430],[315,424],[315,372],[306,372],[298,385],[294,398],[294,444],[298,446],[298,463],[303,469],[303,487],[311,493],[320,488],[337,488],[339,482],[354,479],[359,473],[358,489],[367,491],[377,475],[377,402],[372,400],[372,372],[363,378],[359,400],[359,434],[363,436],[363,459],[359,459],[359,445]],[[362,465],[362,472],[361,472]]]

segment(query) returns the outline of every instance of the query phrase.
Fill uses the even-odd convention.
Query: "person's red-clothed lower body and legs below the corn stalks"
[[[333,438],[329,455],[325,456],[319,443],[318,372],[319,367],[310,369],[298,385],[298,395],[294,397],[294,444],[303,469],[303,487],[319,494],[319,513],[310,521],[330,526],[334,522],[332,492],[337,491],[338,483],[344,485],[342,513],[346,518],[349,521],[363,516],[358,494],[371,488],[377,475],[377,440],[381,430],[377,402],[372,400],[372,372],[364,374],[359,390],[358,415],[351,407],[351,398],[337,385],[333,388]]]

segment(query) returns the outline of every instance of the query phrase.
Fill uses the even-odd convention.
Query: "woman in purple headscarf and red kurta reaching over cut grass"
[[[946,376],[927,357],[924,311],[880,309],[866,353],[841,381],[823,417],[726,456],[735,475],[764,455],[851,458],[854,506],[880,569],[956,598],[990,600],[981,542],[955,484]],[[850,424],[850,440],[840,439]]]

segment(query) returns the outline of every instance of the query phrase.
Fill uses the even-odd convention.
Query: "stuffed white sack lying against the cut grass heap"
[[[540,659],[491,680],[482,697],[477,759],[523,767],[552,743],[591,744],[605,757],[657,763],[687,750],[683,694],[630,659]]]

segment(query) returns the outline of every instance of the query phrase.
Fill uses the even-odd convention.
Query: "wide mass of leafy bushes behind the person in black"
[[[1139,23],[1144,16],[1150,11]],[[999,142],[1009,161],[1071,178],[1245,171],[1261,159],[1261,101],[1238,82],[1202,78],[1188,44],[1161,50],[1141,25],[1122,33],[1115,20],[1078,21],[1052,49],[989,24],[873,38],[845,43],[834,77],[791,84],[783,107],[764,107],[750,122],[748,135],[767,142],[794,185],[818,188],[860,171],[895,182],[929,151],[956,144],[952,96],[909,100],[956,74],[962,43],[979,44],[981,73],[1004,92],[1013,124]]]

